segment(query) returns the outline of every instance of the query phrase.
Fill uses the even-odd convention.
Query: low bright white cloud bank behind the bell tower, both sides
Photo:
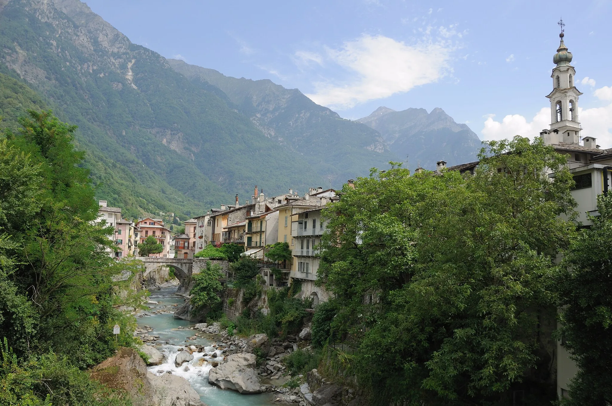
[[[605,94],[602,100],[612,100],[612,88],[602,87],[595,90],[595,94]],[[592,136],[597,138],[597,144],[603,148],[612,147],[612,103],[603,107],[583,109],[578,108],[578,116],[583,130],[580,135],[583,137]],[[538,136],[544,128],[550,128],[550,108],[540,109],[535,114],[531,122],[528,122],[520,114],[512,114],[504,117],[501,122],[494,120],[494,114],[489,114],[482,128],[484,139],[503,139],[521,135],[528,138]]]

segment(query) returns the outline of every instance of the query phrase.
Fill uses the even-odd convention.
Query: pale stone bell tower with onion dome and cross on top
[[[553,144],[558,144],[558,142],[578,144],[581,130],[578,118],[578,97],[582,93],[574,86],[576,70],[570,65],[572,53],[563,43],[565,24],[563,20],[558,24],[561,26],[561,34],[559,34],[561,43],[559,43],[557,53],[553,56],[553,63],[556,64],[551,75],[553,91],[547,96],[550,100],[550,141]]]

